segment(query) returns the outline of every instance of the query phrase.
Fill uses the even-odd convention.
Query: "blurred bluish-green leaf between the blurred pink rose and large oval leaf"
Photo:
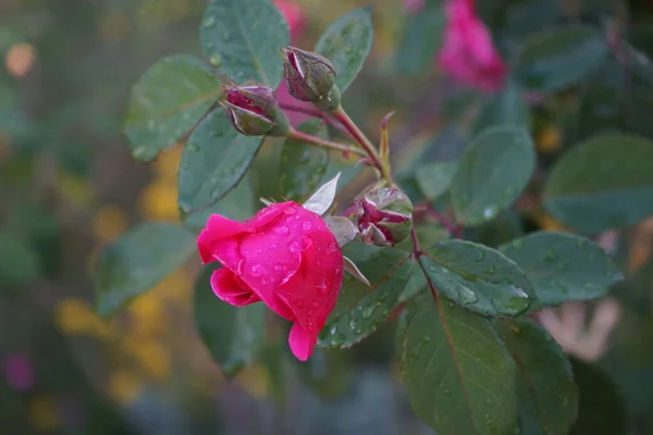
[[[527,132],[530,129],[528,104],[521,90],[514,84],[507,86],[483,105],[471,130],[478,134],[490,127],[506,125],[521,127]]]

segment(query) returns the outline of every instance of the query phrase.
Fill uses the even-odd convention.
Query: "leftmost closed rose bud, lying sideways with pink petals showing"
[[[247,136],[285,136],[288,120],[279,108],[276,95],[262,86],[233,86],[225,91],[222,105],[232,124]]]

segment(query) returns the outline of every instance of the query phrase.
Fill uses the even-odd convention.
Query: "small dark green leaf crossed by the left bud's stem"
[[[321,120],[310,120],[297,129],[329,139],[329,130]],[[281,151],[281,190],[289,200],[306,200],[320,185],[329,165],[329,150],[297,139],[287,139]]]

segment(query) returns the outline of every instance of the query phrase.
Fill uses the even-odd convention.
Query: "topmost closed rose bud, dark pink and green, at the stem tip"
[[[300,101],[310,101],[322,110],[340,105],[340,89],[335,86],[335,66],[323,55],[296,47],[282,49],[283,71],[288,92]]]

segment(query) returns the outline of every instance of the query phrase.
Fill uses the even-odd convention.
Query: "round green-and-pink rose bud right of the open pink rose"
[[[381,187],[367,194],[354,212],[362,241],[394,246],[410,234],[412,203],[402,190]]]

